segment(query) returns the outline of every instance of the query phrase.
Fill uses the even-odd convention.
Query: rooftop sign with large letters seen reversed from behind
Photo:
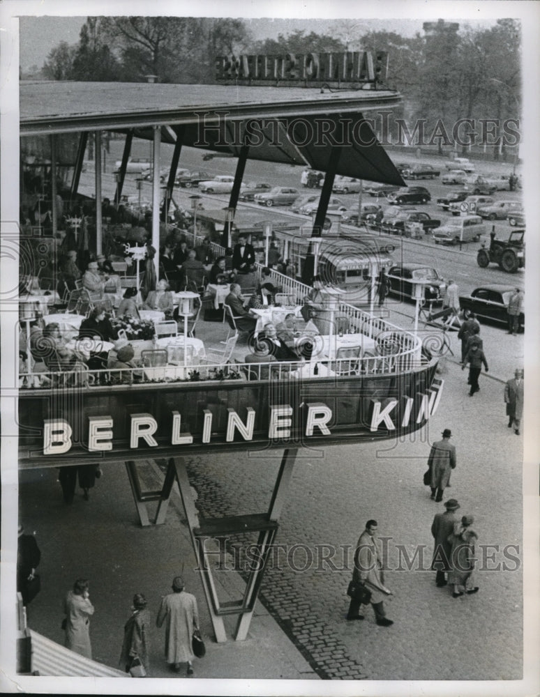
[[[283,56],[245,55],[219,56],[216,59],[216,80],[236,84],[313,85],[327,82],[368,83],[387,77],[388,54],[378,51],[342,53],[287,53]]]

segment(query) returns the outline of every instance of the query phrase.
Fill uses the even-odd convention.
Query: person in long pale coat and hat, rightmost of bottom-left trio
[[[172,593],[161,599],[156,625],[161,627],[165,620],[165,657],[172,671],[179,673],[182,663],[187,663],[187,674],[193,675],[192,649],[193,627],[199,625],[197,600],[184,589],[182,576],[172,581]]]

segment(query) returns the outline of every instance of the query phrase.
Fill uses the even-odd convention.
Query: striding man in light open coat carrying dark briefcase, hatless
[[[380,627],[390,627],[393,621],[387,618],[384,609],[384,599],[392,595],[384,585],[382,569],[382,549],[377,539],[377,521],[368,520],[366,530],[360,535],[357,549],[354,552],[354,569],[352,580],[361,583],[371,592],[370,603],[375,613],[375,621]],[[347,620],[363,620],[359,614],[361,602],[351,598]]]

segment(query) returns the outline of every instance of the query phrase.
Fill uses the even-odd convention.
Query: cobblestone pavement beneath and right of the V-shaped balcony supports
[[[322,457],[304,451],[297,459],[276,544],[297,545],[290,559],[297,569],[308,568],[295,571],[285,563],[282,569],[268,569],[261,599],[321,677],[521,677],[523,442],[507,428],[499,381],[482,376],[481,392],[471,399],[467,373],[457,365],[447,363],[445,379],[442,404],[430,421],[429,434],[417,433],[412,441],[396,444],[328,447],[319,452]],[[479,593],[453,599],[449,588],[436,588],[434,572],[414,567],[408,571],[402,556],[403,569],[386,575],[395,593],[387,603],[393,627],[375,625],[370,608],[363,622],[347,622],[345,590],[352,548],[368,519],[377,519],[380,535],[391,538],[391,565],[399,565],[398,545],[409,558],[418,545],[425,545],[423,568],[429,568],[431,522],[444,509],[430,500],[421,480],[430,443],[440,439],[444,427],[452,429],[458,454],[445,498],[458,498],[460,513],[474,515],[479,544],[497,546],[485,548],[483,566],[505,563],[508,570],[479,571]],[[192,461],[197,506],[206,514],[265,510],[280,455]],[[239,503],[230,503],[225,511],[224,500]],[[340,552],[333,558],[336,570],[328,563],[317,569],[317,544],[338,551],[349,546],[348,558]],[[348,569],[340,570],[344,566]]]

